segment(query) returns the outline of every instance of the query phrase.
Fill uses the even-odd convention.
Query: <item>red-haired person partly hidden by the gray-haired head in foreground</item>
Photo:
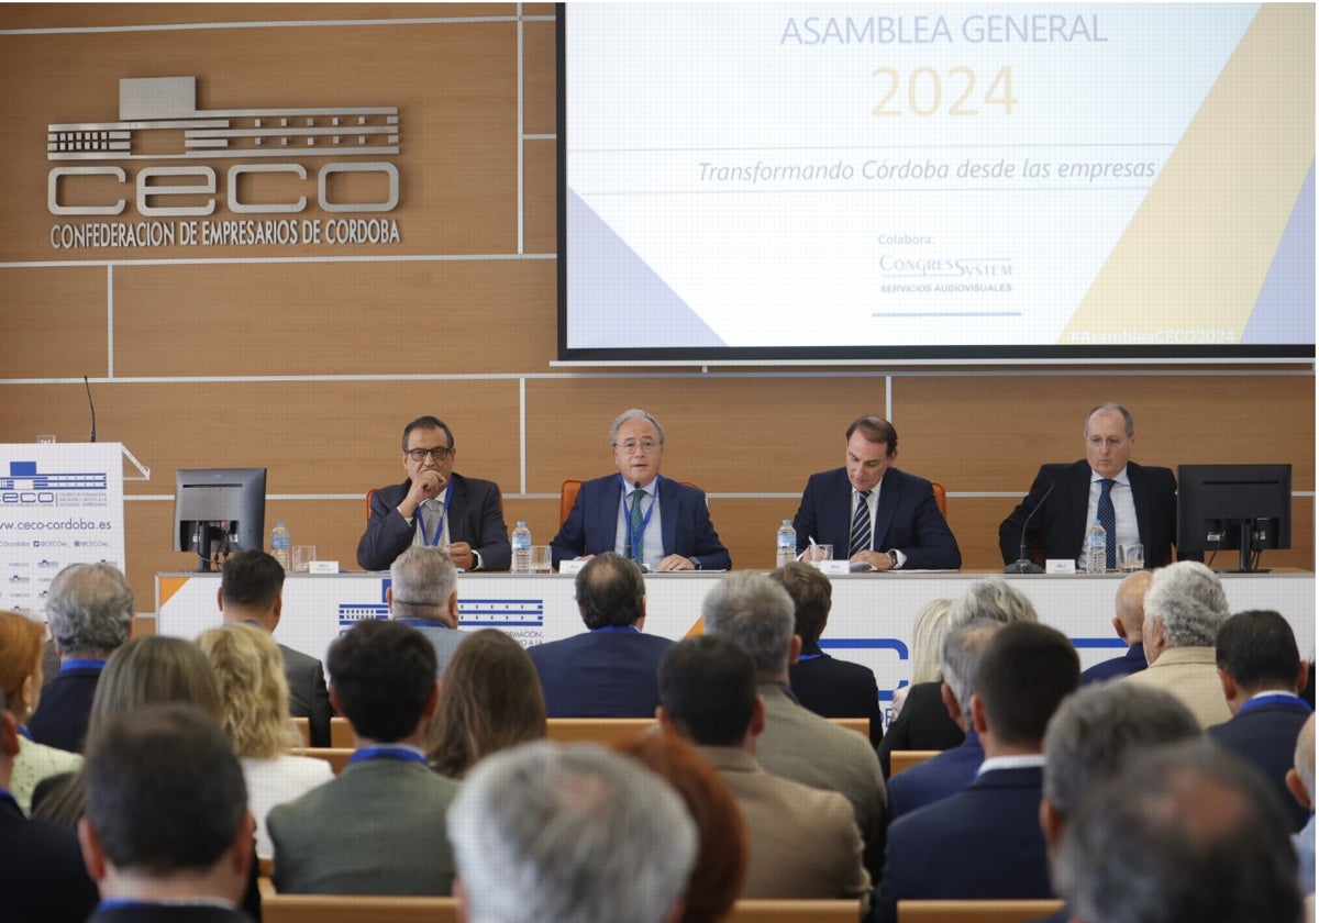
[[[732,910],[747,879],[747,824],[714,767],[674,734],[640,733],[615,746],[673,786],[696,821],[696,862],[677,923],[715,923]],[[851,823],[851,807],[848,807]]]

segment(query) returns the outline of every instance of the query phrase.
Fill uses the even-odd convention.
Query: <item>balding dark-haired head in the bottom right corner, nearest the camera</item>
[[[1054,872],[1080,923],[1301,919],[1277,798],[1258,771],[1203,738],[1134,753],[1087,790]]]

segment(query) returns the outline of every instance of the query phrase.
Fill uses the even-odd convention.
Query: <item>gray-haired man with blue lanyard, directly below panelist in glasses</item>
[[[445,675],[458,645],[458,568],[442,549],[413,545],[389,566],[389,617],[412,625],[435,649],[435,679]]]

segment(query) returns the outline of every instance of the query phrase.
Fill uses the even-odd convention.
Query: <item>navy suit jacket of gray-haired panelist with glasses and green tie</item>
[[[613,551],[619,529],[623,479],[605,475],[586,481],[559,534],[550,542],[554,564],[588,554]],[[703,571],[727,571],[733,563],[710,521],[706,492],[669,477],[660,479],[660,533],[665,556],[699,558]]]

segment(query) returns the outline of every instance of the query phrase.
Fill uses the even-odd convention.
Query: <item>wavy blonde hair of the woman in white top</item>
[[[220,727],[240,757],[273,759],[302,742],[289,717],[284,657],[265,630],[233,622],[202,632],[197,646],[220,690]]]

